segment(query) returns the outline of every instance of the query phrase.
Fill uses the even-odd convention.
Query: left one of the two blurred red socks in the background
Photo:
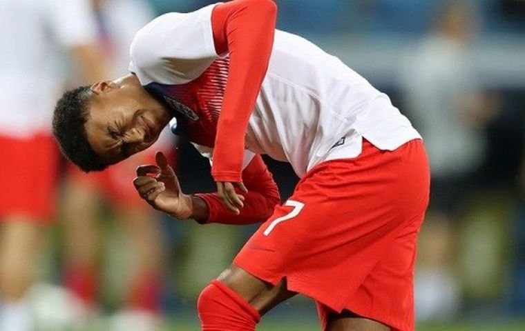
[[[93,268],[86,265],[73,265],[67,268],[64,285],[88,305],[95,305],[97,297],[97,277]]]

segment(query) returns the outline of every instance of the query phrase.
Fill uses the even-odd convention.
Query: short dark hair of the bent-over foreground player
[[[53,113],[53,134],[62,154],[85,172],[107,167],[90,146],[84,127],[89,118],[89,97],[89,86],[69,90],[59,99]]]

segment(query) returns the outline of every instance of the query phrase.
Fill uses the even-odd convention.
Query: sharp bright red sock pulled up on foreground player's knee
[[[220,281],[212,281],[197,303],[202,331],[254,331],[260,314]]]

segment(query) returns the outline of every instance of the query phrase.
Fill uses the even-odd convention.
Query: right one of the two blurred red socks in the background
[[[160,278],[156,272],[139,274],[131,283],[128,306],[137,310],[160,312]]]

